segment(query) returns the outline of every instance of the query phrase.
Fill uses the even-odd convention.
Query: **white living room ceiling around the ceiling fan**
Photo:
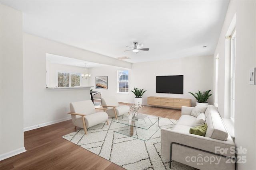
[[[1,0],[1,4],[23,12],[25,33],[140,63],[213,55],[229,0]],[[134,41],[150,50],[124,52]]]

